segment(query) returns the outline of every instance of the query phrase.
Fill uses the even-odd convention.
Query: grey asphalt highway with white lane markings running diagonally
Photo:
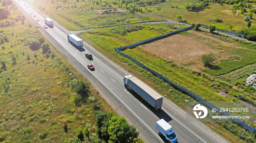
[[[140,137],[146,143],[167,142],[158,134],[155,128],[159,119],[165,119],[177,135],[178,143],[227,143],[225,139],[212,132],[200,122],[187,122],[185,111],[171,101],[164,98],[161,110],[154,111],[144,104],[136,95],[131,94],[123,85],[123,77],[130,74],[111,60],[107,59],[93,47],[84,42],[83,48],[75,48],[67,40],[67,34],[71,34],[57,24],[54,27],[44,29],[44,18],[48,16],[39,12],[23,1],[13,0],[34,25],[39,25],[39,30],[63,54],[74,67],[81,72],[102,97],[120,114],[134,124],[140,131]],[[27,6],[29,6],[27,8]],[[33,15],[36,17],[33,17]],[[36,21],[39,19],[39,21]],[[114,50],[114,49],[113,49]],[[84,55],[91,53],[93,59],[89,60]],[[93,64],[94,71],[87,68],[87,64]],[[192,118],[192,117],[190,117]]]

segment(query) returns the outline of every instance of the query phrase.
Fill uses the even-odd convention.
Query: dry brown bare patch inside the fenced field
[[[215,62],[219,62],[221,59],[230,56],[226,52],[223,52],[224,49],[219,49],[219,45],[231,48],[231,43],[196,31],[188,32],[196,34],[199,38],[176,34],[152,43],[140,45],[140,48],[168,61],[173,61],[173,63],[177,65],[184,66],[184,64],[193,62],[194,64],[187,66],[187,68],[198,72],[201,71],[200,69],[204,68],[201,62],[202,55],[209,53],[215,54],[217,56]]]

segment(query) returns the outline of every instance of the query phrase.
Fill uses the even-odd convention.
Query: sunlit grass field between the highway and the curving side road
[[[120,13],[98,14],[97,10],[112,9],[113,12],[118,9],[118,5],[114,5],[111,0],[98,1],[99,5],[96,0],[79,2],[77,0],[53,2],[52,0],[27,0],[27,2],[37,9],[44,9],[41,12],[71,31],[164,20],[140,12],[129,13],[126,9],[122,9],[123,12]],[[108,5],[103,7],[101,3]]]

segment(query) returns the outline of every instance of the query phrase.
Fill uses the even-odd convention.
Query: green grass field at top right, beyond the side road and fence
[[[153,6],[147,6],[147,9],[152,9],[152,13],[155,15],[167,17],[172,20],[177,20],[177,15],[182,15],[182,18],[187,19],[189,23],[200,23],[204,25],[215,24],[217,28],[229,30],[229,25],[233,26],[233,30],[241,30],[247,28],[246,21],[244,18],[249,13],[249,9],[244,14],[236,15],[231,12],[232,5],[230,4],[219,4],[209,3],[210,5],[202,11],[188,11],[185,6],[198,2],[197,0],[166,0],[166,3],[161,3]],[[158,11],[157,7],[161,7]],[[171,8],[173,7],[173,8]],[[255,7],[255,5],[253,5]],[[252,8],[253,9],[253,8]],[[168,13],[168,15],[166,15]],[[215,23],[215,19],[221,19],[222,23]],[[252,20],[252,27],[254,26],[255,20]]]

